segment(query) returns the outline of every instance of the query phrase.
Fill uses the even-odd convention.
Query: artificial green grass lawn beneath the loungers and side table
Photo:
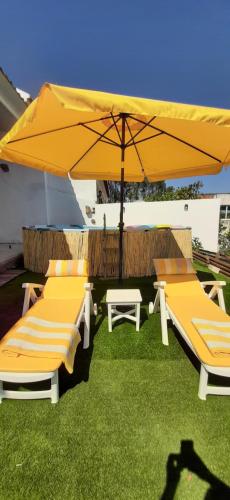
[[[202,279],[213,276],[197,268]],[[19,315],[23,281],[41,277],[0,288],[1,333]],[[199,366],[171,328],[163,346],[159,315],[148,315],[152,281],[123,284],[141,289],[140,332],[123,320],[108,333],[104,296],[118,284],[94,280],[92,345],[79,347],[72,376],[61,370],[59,403],[3,401],[0,498],[230,498],[221,483],[230,477],[230,398],[198,399]],[[230,310],[230,283],[225,296]]]

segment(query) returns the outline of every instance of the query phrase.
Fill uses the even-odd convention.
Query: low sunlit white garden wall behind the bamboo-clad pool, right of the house
[[[185,205],[188,205],[187,211]],[[119,211],[119,203],[96,205],[96,224],[103,226],[103,215],[106,214],[106,225],[117,226]],[[124,223],[126,226],[170,224],[191,227],[192,237],[199,238],[205,250],[217,252],[219,212],[219,199],[124,203]]]

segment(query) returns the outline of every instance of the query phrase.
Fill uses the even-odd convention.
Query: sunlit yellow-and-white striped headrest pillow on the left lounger
[[[88,276],[88,261],[75,260],[49,260],[46,276]]]

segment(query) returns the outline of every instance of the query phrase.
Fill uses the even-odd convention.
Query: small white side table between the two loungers
[[[140,290],[107,290],[106,303],[108,306],[108,326],[112,332],[112,325],[120,318],[131,319],[136,323],[136,331],[140,328],[140,304],[142,302]],[[119,306],[133,306],[129,311],[119,311]]]

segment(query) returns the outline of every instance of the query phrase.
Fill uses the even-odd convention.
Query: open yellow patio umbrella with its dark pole
[[[125,181],[216,174],[230,163],[230,110],[45,84],[0,158],[72,179]]]

